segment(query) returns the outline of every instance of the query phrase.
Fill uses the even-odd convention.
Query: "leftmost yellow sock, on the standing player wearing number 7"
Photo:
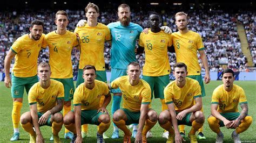
[[[14,125],[14,128],[19,128],[19,119],[21,118],[22,103],[14,102],[13,105],[14,106],[12,106],[11,112],[12,124]]]

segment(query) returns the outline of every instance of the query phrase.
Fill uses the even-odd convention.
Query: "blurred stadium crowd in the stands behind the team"
[[[79,19],[86,19],[84,10],[66,10],[69,13],[68,30],[75,30]],[[56,29],[54,23],[56,11],[38,10],[22,12],[0,12],[0,69],[3,71],[4,56],[9,48],[18,37],[28,33],[28,27],[33,19],[43,20],[45,23],[44,33],[48,33]],[[137,11],[131,13],[131,21],[141,25],[143,28],[148,27],[147,15],[151,11]],[[240,14],[226,13],[221,10],[216,11],[193,11],[188,10],[190,24],[188,28],[198,32],[203,38],[206,47],[206,55],[210,71],[218,71],[222,69],[221,65],[227,65],[234,71],[245,71],[247,68],[247,59],[241,52],[240,39],[237,33],[237,19],[245,26],[246,36],[249,47],[251,49],[254,64],[256,63],[256,47],[255,47],[255,15],[253,12],[242,12]],[[162,24],[171,27],[173,32],[177,31],[174,23],[174,13],[162,11]],[[99,22],[105,25],[115,22],[117,19],[116,12],[102,11],[100,12]],[[170,66],[173,67],[176,56],[175,53],[168,53]],[[105,44],[104,57],[106,69],[110,69],[110,45]],[[137,60],[143,67],[145,62],[145,54],[137,55]],[[199,63],[201,64],[198,54]],[[48,61],[48,49],[43,49],[39,54],[38,62]],[[72,51],[73,70],[78,70],[79,51]],[[204,69],[202,69],[204,71]]]

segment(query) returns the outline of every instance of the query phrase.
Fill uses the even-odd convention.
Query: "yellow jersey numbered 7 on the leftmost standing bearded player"
[[[29,34],[25,34],[12,44],[11,51],[16,54],[12,69],[14,76],[32,77],[37,74],[37,59],[43,46],[44,36],[45,34],[42,34],[40,39],[35,41],[29,38]]]

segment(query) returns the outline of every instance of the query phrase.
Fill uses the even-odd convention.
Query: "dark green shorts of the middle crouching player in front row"
[[[120,109],[123,110],[125,112],[125,115],[127,116],[125,125],[139,124],[140,112],[132,112],[125,108],[120,108]]]

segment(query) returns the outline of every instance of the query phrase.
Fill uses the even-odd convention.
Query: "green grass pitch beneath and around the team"
[[[210,103],[211,103],[211,95],[213,90],[220,85],[221,81],[211,81],[209,84],[205,85],[206,89],[206,97],[203,98],[203,107],[204,107],[204,115],[207,119],[207,117],[210,115]],[[248,128],[247,131],[240,134],[240,139],[242,142],[256,142],[256,82],[255,81],[235,81],[235,84],[240,85],[242,88],[244,88],[247,101],[248,101],[248,107],[249,107],[249,115],[253,117],[253,123]],[[0,82],[0,91],[1,91],[1,101],[0,101],[0,142],[10,142],[10,138],[13,133],[12,129],[12,122],[11,122],[11,110],[12,110],[12,98],[11,98],[11,92],[10,89],[4,87],[4,82]],[[107,109],[111,112],[111,105],[112,101],[107,106]],[[159,99],[153,99],[152,101],[152,108],[160,113],[161,110],[161,103]],[[240,107],[239,107],[239,110]],[[26,94],[24,94],[23,98],[23,108],[22,113],[29,111],[29,105],[28,105],[28,97]],[[97,127],[95,125],[89,125],[89,138],[85,138],[84,142],[96,142],[96,130]],[[29,142],[29,134],[26,133],[22,127],[19,127],[20,131],[20,140],[17,142]],[[45,142],[50,142],[49,139],[51,137],[51,127],[43,126],[41,127],[41,131],[43,134],[43,137],[45,139]],[[111,137],[113,131],[113,126],[111,124],[109,130],[106,131],[106,135],[108,137]],[[152,134],[153,138],[147,139],[148,142],[165,142],[166,139],[162,138],[163,134],[163,128],[159,126],[157,123],[156,126],[152,128]],[[186,135],[190,131],[190,127],[185,127]],[[227,129],[222,127],[221,131],[224,133],[224,142],[233,142],[231,138],[232,129]],[[205,120],[204,124],[204,134],[206,136],[206,140],[198,140],[198,142],[215,142],[216,134],[213,133],[208,124],[207,120]],[[62,131],[59,133],[60,139],[62,142],[70,142],[68,139],[64,139],[64,127],[62,128]],[[119,139],[105,139],[105,142],[122,142],[123,141],[123,132],[119,131]],[[189,142],[190,140],[186,137],[186,142]],[[134,139],[132,139],[134,141]]]

